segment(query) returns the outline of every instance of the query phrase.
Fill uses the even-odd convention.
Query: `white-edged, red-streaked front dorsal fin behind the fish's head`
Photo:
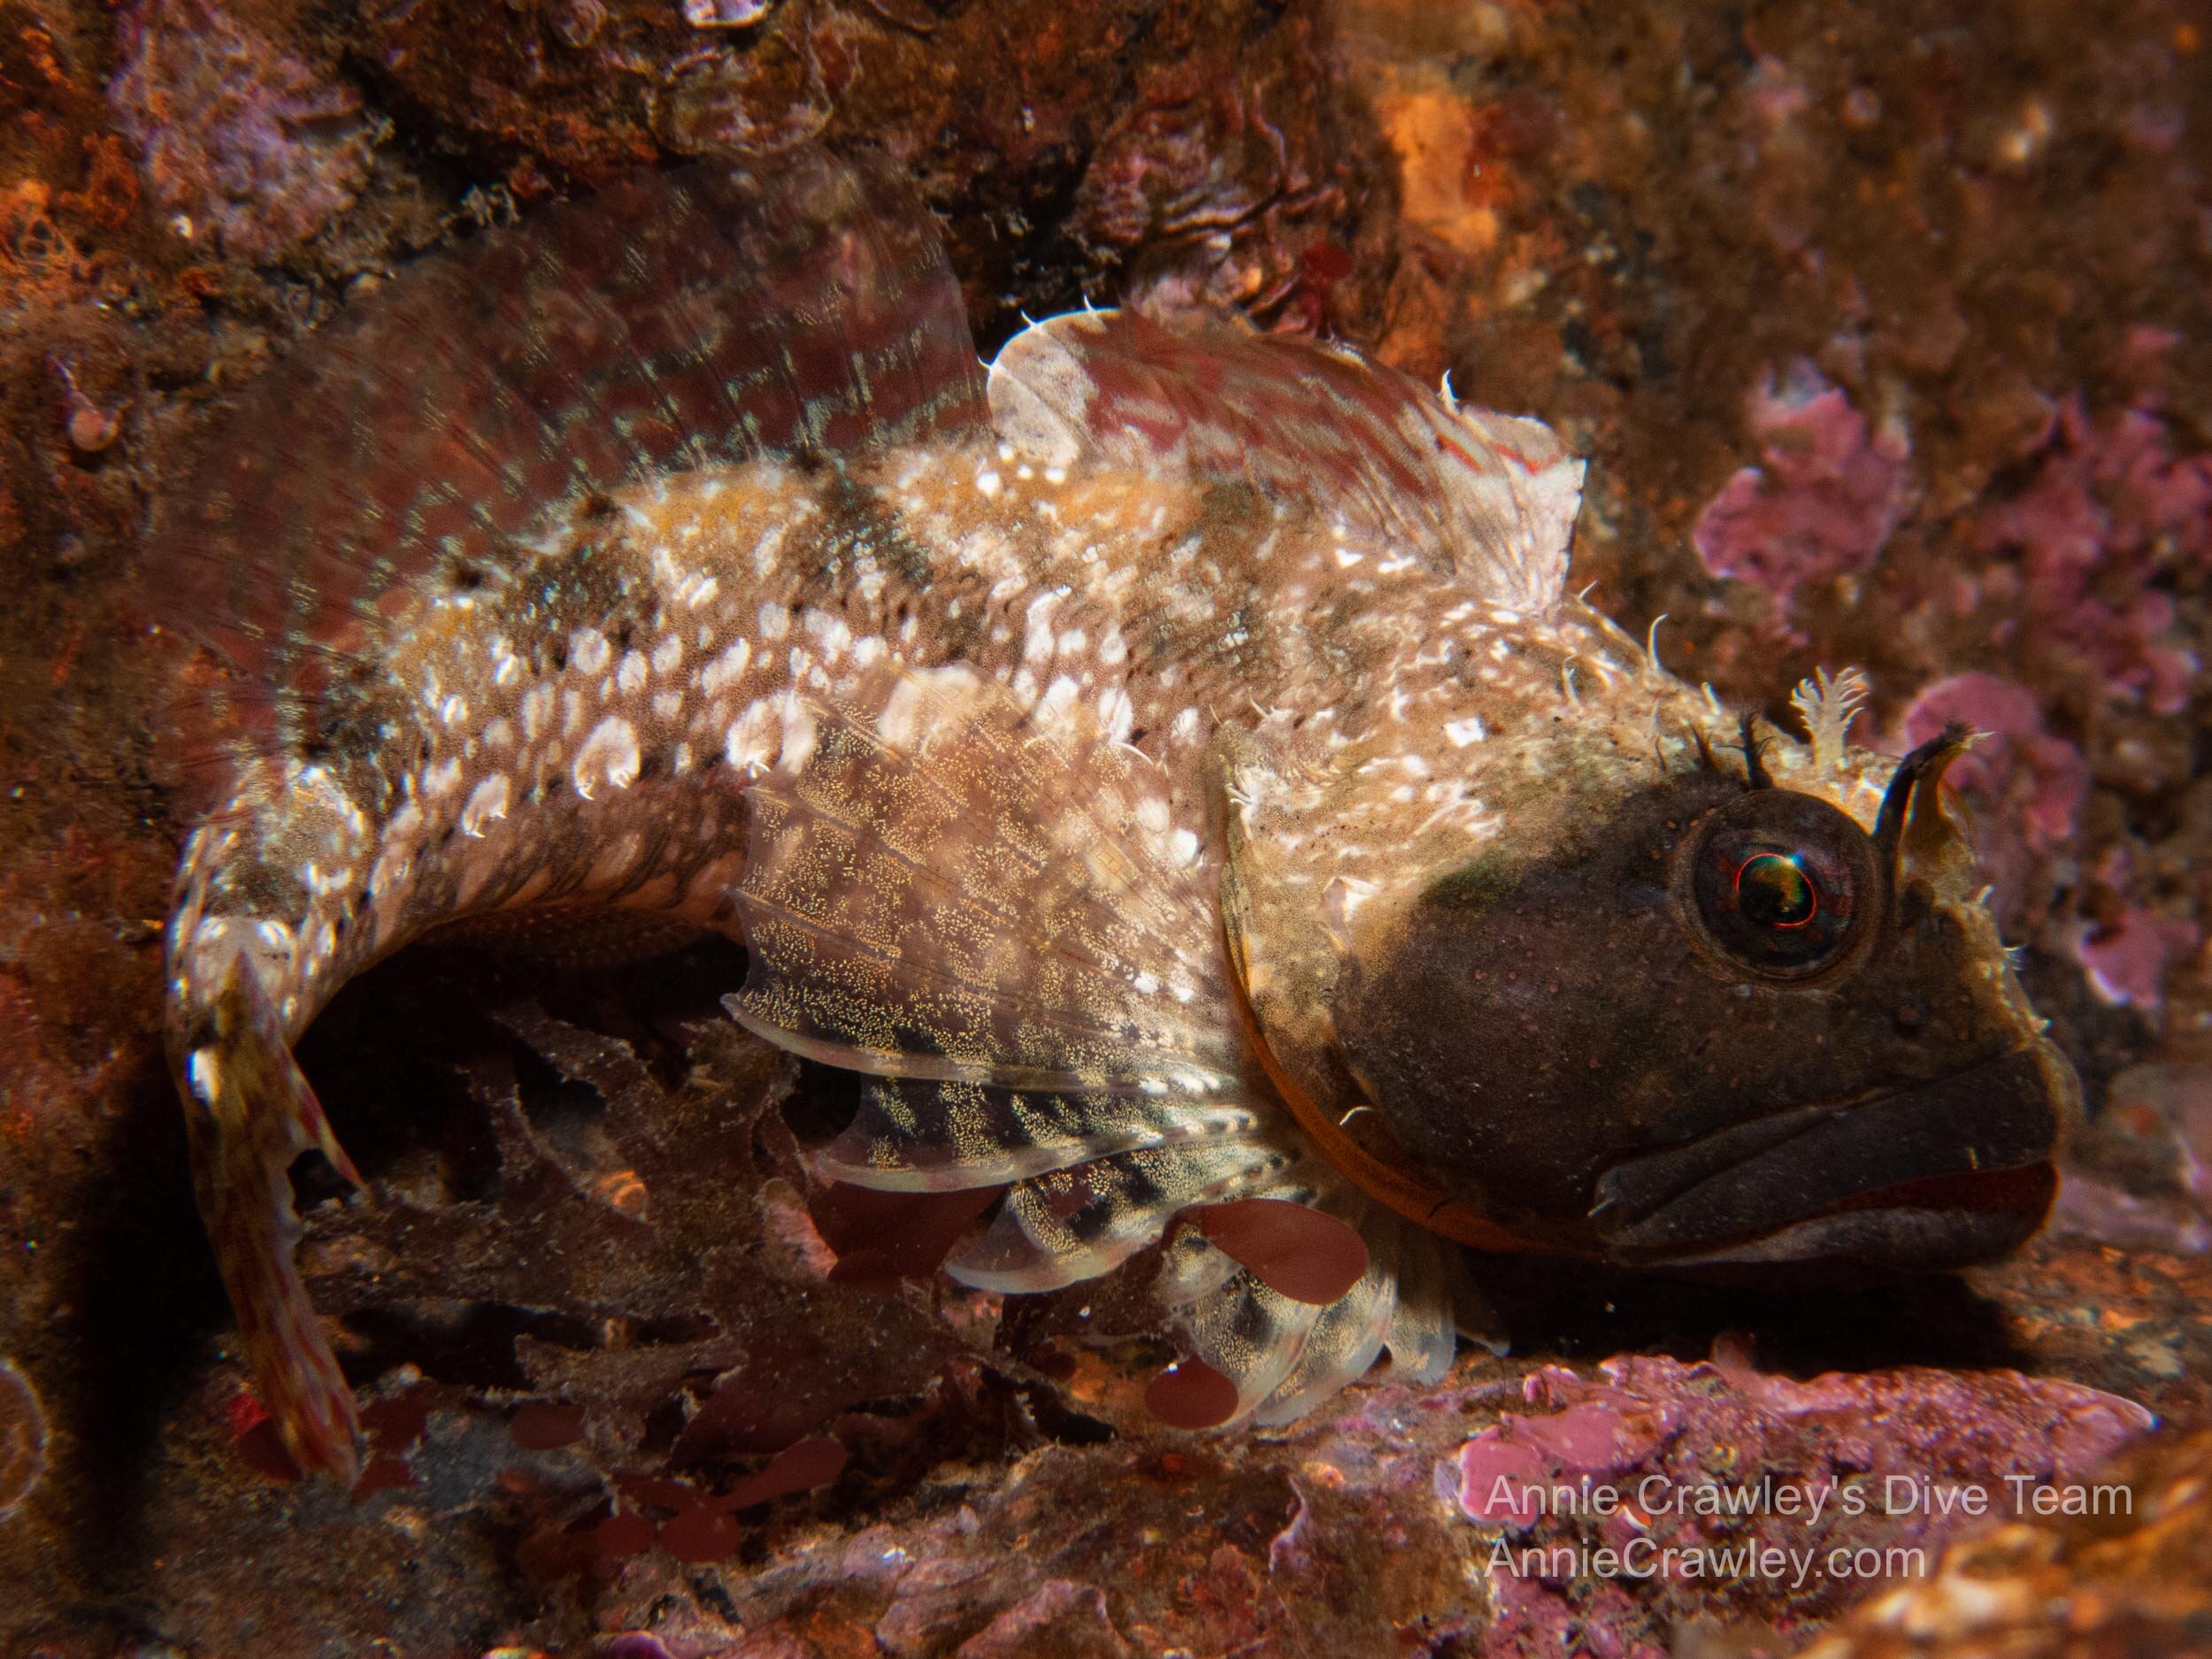
[[[1252,482],[1495,604],[1542,611],[1566,586],[1582,462],[1551,427],[1453,407],[1349,347],[1071,312],[998,354],[991,418],[1046,465]]]

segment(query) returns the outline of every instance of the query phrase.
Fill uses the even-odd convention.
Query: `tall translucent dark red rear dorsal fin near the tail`
[[[161,504],[146,604],[296,712],[436,573],[480,580],[597,493],[982,420],[889,164],[641,173],[409,265],[246,387]]]

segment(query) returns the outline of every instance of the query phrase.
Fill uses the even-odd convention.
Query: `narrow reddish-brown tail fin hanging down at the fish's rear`
[[[212,1002],[184,1031],[175,1062],[192,1186],[254,1389],[303,1473],[352,1484],[361,1473],[361,1420],[292,1265],[301,1237],[292,1161],[321,1152],[354,1186],[361,1172],[330,1133],[276,1011],[243,962],[230,964]]]

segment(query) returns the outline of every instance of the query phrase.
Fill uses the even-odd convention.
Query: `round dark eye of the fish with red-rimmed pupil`
[[[1732,967],[1801,980],[1836,967],[1880,891],[1874,843],[1809,794],[1761,790],[1705,816],[1688,885],[1697,931]]]

